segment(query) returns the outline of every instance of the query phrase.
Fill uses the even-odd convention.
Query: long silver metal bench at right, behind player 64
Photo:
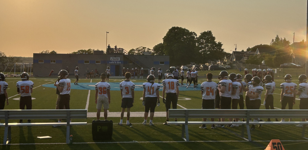
[[[245,126],[248,140],[251,141],[249,125],[251,124],[302,124],[302,137],[305,136],[307,121],[286,122],[251,122],[249,118],[308,118],[308,110],[279,110],[279,109],[169,109],[170,118],[185,118],[185,121],[168,121],[168,124],[182,124],[182,138],[189,141],[189,124],[242,124],[241,137],[244,138]],[[210,122],[210,121],[188,121],[189,118],[245,118],[244,122]],[[186,135],[186,137],[185,137]]]

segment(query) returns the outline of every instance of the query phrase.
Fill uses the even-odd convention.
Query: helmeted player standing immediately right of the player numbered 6
[[[230,73],[229,79],[232,81],[232,93],[231,93],[232,109],[237,109],[238,102],[240,101],[240,91],[242,88],[242,84],[236,81],[237,76],[235,73]],[[235,118],[235,121],[238,121],[238,118]],[[238,126],[239,126],[238,124],[230,125],[230,127],[238,127]]]

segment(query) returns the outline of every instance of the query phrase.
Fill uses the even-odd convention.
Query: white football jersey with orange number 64
[[[202,99],[215,99],[216,91],[217,91],[217,83],[211,82],[203,82],[200,86],[201,91],[203,91]]]

